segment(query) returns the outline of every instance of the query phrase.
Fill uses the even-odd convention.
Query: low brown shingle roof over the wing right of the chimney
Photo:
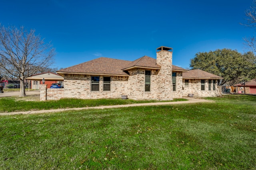
[[[182,74],[182,78],[188,79],[223,79],[220,76],[216,76],[215,74],[211,74],[210,72],[206,72],[200,69],[189,70],[189,72],[184,72]]]

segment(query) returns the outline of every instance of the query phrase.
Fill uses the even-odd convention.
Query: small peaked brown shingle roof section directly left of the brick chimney
[[[130,70],[132,68],[154,68],[159,69],[161,68],[160,65],[156,64],[156,59],[153,59],[148,56],[140,57],[137,60],[132,61],[128,65],[124,66],[122,70]]]

